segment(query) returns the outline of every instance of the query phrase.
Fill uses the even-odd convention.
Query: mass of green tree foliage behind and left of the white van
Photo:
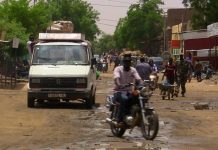
[[[7,31],[6,40],[20,39],[18,55],[26,55],[28,36],[38,36],[45,32],[52,20],[69,20],[75,25],[75,32],[86,35],[94,41],[100,33],[96,25],[99,13],[82,0],[38,0],[33,5],[30,0],[4,0],[0,2],[0,31]],[[4,51],[10,52],[5,46]]]

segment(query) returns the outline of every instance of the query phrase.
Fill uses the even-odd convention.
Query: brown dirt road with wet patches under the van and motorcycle
[[[65,149],[165,149],[216,150],[218,147],[217,78],[187,84],[186,97],[162,100],[159,90],[151,98],[160,120],[154,141],[145,141],[135,129],[123,138],[113,137],[105,118],[105,97],[112,93],[111,74],[98,80],[96,106],[85,109],[80,103],[44,103],[27,108],[26,83],[16,89],[0,89],[1,150]],[[204,102],[209,109],[195,110]]]

